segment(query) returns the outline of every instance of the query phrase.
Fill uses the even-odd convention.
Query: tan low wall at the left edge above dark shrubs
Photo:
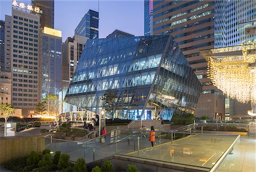
[[[42,152],[43,149],[42,136],[0,137],[0,165],[13,158],[26,157],[31,151]]]

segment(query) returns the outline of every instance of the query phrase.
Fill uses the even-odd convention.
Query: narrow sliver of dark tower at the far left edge
[[[5,70],[5,21],[0,20],[0,71]]]

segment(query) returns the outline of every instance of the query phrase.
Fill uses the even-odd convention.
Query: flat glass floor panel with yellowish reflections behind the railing
[[[176,140],[173,144],[168,142],[142,149],[139,154],[135,151],[126,155],[210,169],[236,138],[237,136],[193,135]]]

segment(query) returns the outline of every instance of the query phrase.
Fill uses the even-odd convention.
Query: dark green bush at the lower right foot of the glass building
[[[193,121],[195,120],[195,116],[193,114],[174,114],[172,116],[172,119],[171,121],[174,123],[174,124],[178,124],[178,125],[188,125],[188,124],[191,124],[193,123]]]

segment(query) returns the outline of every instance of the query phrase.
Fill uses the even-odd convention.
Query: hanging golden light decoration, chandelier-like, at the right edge
[[[256,44],[203,50],[208,77],[226,96],[256,104]],[[253,113],[256,113],[253,111]]]

